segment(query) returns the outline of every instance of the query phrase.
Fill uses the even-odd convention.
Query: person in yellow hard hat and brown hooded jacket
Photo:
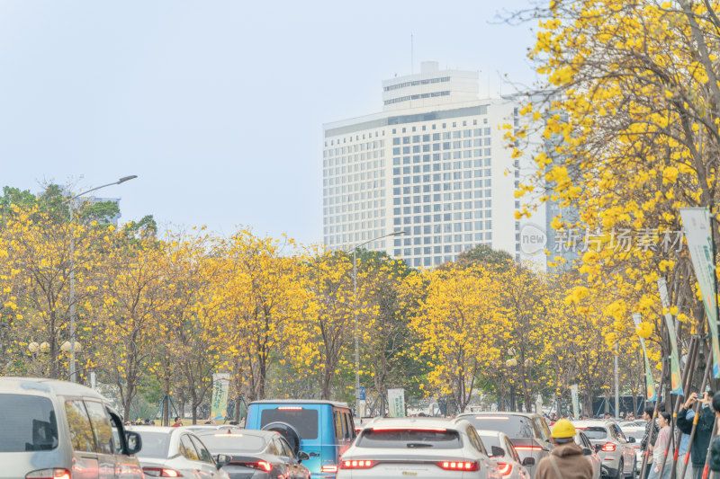
[[[550,435],[555,448],[537,465],[535,479],[592,479],[592,465],[575,444],[575,434],[571,421],[555,422]]]

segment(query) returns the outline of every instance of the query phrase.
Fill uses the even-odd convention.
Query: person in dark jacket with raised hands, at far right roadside
[[[683,433],[689,434],[692,431],[692,424],[695,420],[695,411],[693,404],[700,402],[698,426],[695,429],[695,439],[690,447],[690,461],[692,463],[693,479],[700,479],[703,475],[705,467],[705,459],[707,457],[707,448],[710,446],[710,435],[713,433],[713,425],[715,424],[715,412],[713,412],[713,392],[707,391],[701,399],[698,394],[689,395],[688,400],[682,404],[680,412],[678,412],[678,429]]]

